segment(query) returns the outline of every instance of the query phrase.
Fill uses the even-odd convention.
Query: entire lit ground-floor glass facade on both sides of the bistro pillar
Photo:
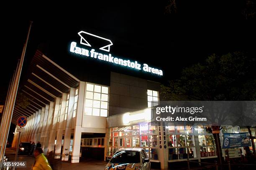
[[[169,161],[216,156],[215,141],[206,126],[172,123],[165,129]],[[133,147],[146,150],[150,160],[159,160],[159,127],[154,123],[109,128],[107,139],[108,157],[120,148]]]

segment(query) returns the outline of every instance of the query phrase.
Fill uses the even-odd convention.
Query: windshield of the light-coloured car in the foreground
[[[139,151],[120,151],[115,153],[110,163],[140,163]]]

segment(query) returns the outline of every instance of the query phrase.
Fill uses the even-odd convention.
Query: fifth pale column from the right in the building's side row
[[[50,137],[49,135],[50,135],[50,128],[52,125],[54,105],[55,105],[55,102],[50,102],[49,113],[48,113],[48,118],[47,118],[47,125],[46,125],[46,132],[45,132],[45,138],[44,138],[44,154],[47,154],[47,152],[48,152],[49,137]]]

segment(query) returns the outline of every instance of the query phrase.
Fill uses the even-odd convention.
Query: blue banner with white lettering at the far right
[[[223,149],[251,146],[249,133],[224,133]]]

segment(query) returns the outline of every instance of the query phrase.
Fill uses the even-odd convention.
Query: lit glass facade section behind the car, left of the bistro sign
[[[159,160],[157,126],[151,123],[109,128],[107,156],[113,156],[120,148],[144,148],[151,160]]]

